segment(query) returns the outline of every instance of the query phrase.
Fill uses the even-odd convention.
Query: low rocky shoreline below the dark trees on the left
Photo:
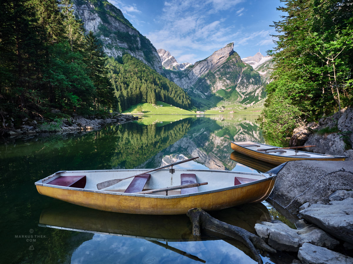
[[[15,129],[13,125],[4,130],[3,137],[20,137],[31,136],[35,134],[51,134],[78,131],[92,131],[100,129],[107,124],[124,124],[132,120],[138,120],[133,115],[125,115],[121,113],[110,113],[105,117],[91,116],[84,118],[79,115],[73,115],[70,118],[56,119],[56,121],[46,122],[44,119],[24,120],[23,125]]]

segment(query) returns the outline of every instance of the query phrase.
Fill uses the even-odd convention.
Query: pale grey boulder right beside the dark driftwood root
[[[330,249],[339,244],[339,241],[331,237],[325,231],[307,225],[299,220],[295,230],[279,220],[262,222],[255,225],[257,234],[276,250],[298,251],[304,243],[311,243],[317,246],[324,246]]]

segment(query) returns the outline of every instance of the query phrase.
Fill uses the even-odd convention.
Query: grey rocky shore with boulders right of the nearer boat
[[[352,161],[288,162],[268,201],[297,229],[273,220],[256,224],[256,232],[274,249],[297,254],[290,263],[353,264]]]

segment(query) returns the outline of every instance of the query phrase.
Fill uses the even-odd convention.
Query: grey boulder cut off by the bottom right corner
[[[351,257],[309,243],[300,247],[298,258],[303,264],[353,264]]]

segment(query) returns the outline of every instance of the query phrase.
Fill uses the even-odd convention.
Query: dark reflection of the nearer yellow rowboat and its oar
[[[231,225],[255,233],[255,224],[271,219],[262,203],[247,204],[210,212],[213,217]],[[40,216],[41,227],[88,232],[120,237],[142,238],[158,246],[179,253],[185,257],[205,263],[205,260],[168,245],[168,242],[199,240],[225,240],[248,256],[250,251],[242,243],[221,237],[219,234],[203,233],[192,235],[192,223],[186,215],[138,215],[113,213],[62,203],[60,206],[44,209]],[[166,241],[162,243],[160,241]],[[187,243],[187,242],[186,242]]]

